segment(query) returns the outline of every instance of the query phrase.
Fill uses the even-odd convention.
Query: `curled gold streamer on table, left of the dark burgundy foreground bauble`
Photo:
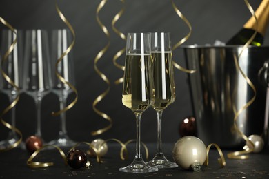
[[[64,154],[63,150],[58,147],[57,145],[43,145],[43,147],[41,147],[40,149],[37,149],[36,151],[34,151],[34,153],[32,153],[32,155],[30,156],[30,158],[28,158],[26,164],[28,165],[28,167],[30,168],[40,168],[40,167],[50,167],[53,166],[54,163],[53,162],[33,162],[32,160],[34,159],[35,156],[37,156],[37,154],[39,154],[39,152],[45,148],[48,147],[54,147],[56,148],[59,153],[61,154],[61,158],[63,158],[63,162],[65,165],[68,165],[67,163],[67,159],[66,159],[66,155]]]

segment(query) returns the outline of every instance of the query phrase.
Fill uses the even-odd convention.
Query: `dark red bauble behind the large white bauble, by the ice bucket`
[[[194,117],[189,116],[179,124],[179,135],[180,137],[197,136],[197,126]]]

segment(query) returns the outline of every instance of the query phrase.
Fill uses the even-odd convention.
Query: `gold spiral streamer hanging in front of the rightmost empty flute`
[[[58,112],[52,112],[53,116],[59,116],[61,113],[68,111],[70,108],[72,108],[76,103],[77,103],[77,89],[68,81],[66,81],[65,78],[63,78],[63,76],[61,76],[61,74],[59,74],[59,72],[57,71],[57,66],[59,65],[59,63],[63,60],[63,57],[66,56],[74,47],[74,41],[75,41],[75,33],[74,33],[74,29],[72,28],[72,25],[69,23],[69,21],[66,19],[66,17],[64,17],[63,13],[61,12],[61,10],[59,9],[57,2],[55,3],[55,7],[57,10],[57,13],[59,14],[59,17],[61,18],[61,20],[66,23],[66,25],[68,26],[68,28],[70,29],[70,31],[72,32],[72,36],[73,36],[73,41],[72,43],[68,46],[68,48],[66,49],[65,52],[63,52],[63,54],[61,54],[61,56],[59,57],[59,59],[57,59],[57,63],[55,64],[56,70],[55,70],[55,74],[57,76],[57,78],[59,78],[59,80],[64,83],[65,85],[68,85],[72,91],[76,94],[76,97],[74,98],[74,101],[72,101],[72,103],[70,103],[67,107],[59,110]]]

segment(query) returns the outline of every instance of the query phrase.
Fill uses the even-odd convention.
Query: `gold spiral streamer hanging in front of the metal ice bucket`
[[[248,83],[248,85],[250,85],[250,87],[252,88],[254,95],[252,96],[252,98],[250,99],[250,101],[248,101],[248,103],[246,103],[246,105],[243,105],[243,107],[241,107],[241,109],[239,109],[238,111],[236,111],[235,109],[235,117],[234,117],[234,127],[235,130],[240,134],[240,136],[246,140],[246,142],[250,143],[250,145],[252,145],[252,147],[246,148],[243,151],[235,151],[235,152],[231,152],[229,154],[227,154],[228,158],[232,158],[232,159],[247,159],[249,158],[248,155],[246,154],[250,154],[252,153],[255,145],[248,139],[248,137],[243,134],[242,131],[240,131],[240,129],[237,127],[237,118],[239,116],[239,114],[241,114],[243,112],[243,110],[245,110],[246,108],[248,108],[254,101],[256,98],[256,88],[253,85],[253,83],[250,81],[250,79],[248,78],[248,76],[246,76],[246,74],[243,72],[243,70],[241,69],[240,65],[239,65],[239,59],[241,57],[241,54],[243,54],[243,51],[246,50],[246,48],[248,48],[248,45],[250,45],[250,43],[253,41],[253,39],[255,38],[256,34],[257,34],[257,29],[258,29],[258,20],[257,17],[255,15],[255,11],[253,10],[252,6],[250,6],[250,3],[248,2],[248,0],[244,0],[246,3],[246,6],[248,7],[248,10],[250,10],[252,16],[255,18],[255,22],[256,22],[256,29],[255,29],[255,33],[252,34],[252,36],[250,37],[250,39],[246,42],[245,45],[243,45],[243,48],[241,50],[241,52],[239,53],[238,59],[237,56],[234,54],[234,60],[235,60],[235,67],[237,70],[239,70],[239,72],[241,73],[241,75],[243,76],[243,78],[246,79],[246,82]]]

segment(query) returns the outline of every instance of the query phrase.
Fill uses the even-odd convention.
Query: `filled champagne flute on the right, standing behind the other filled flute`
[[[177,167],[177,164],[167,160],[161,149],[161,116],[163,110],[175,101],[170,33],[152,33],[151,40],[152,74],[155,86],[155,103],[152,107],[157,112],[157,154],[148,165],[157,168],[173,168]]]

